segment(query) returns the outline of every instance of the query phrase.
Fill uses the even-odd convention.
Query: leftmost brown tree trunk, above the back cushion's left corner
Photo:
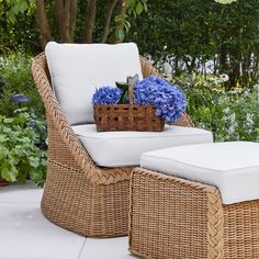
[[[46,15],[44,0],[36,0],[36,14],[37,14],[38,26],[41,31],[38,38],[42,44],[42,47],[44,48],[45,45],[52,40],[52,33],[50,33],[50,27],[49,27],[47,15]]]

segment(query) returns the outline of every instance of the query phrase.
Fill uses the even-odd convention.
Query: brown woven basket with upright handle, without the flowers
[[[132,78],[127,78],[127,83],[130,104],[93,105],[97,130],[162,132],[165,122],[155,114],[155,106],[134,105]]]

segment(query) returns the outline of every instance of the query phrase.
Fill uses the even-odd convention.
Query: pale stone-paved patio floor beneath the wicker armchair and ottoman
[[[0,188],[0,259],[134,259],[127,237],[85,238],[48,222],[43,189],[33,183]]]

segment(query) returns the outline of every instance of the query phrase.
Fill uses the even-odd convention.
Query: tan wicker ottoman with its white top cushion
[[[140,165],[131,182],[133,254],[259,258],[259,143],[160,149],[144,154]]]

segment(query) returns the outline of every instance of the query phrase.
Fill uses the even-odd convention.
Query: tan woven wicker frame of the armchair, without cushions
[[[144,76],[157,74],[140,58]],[[46,110],[48,124],[47,180],[42,211],[55,224],[83,236],[127,234],[132,168],[100,168],[76,137],[53,94],[46,57],[32,63],[32,74]],[[191,126],[188,115],[179,125]]]

